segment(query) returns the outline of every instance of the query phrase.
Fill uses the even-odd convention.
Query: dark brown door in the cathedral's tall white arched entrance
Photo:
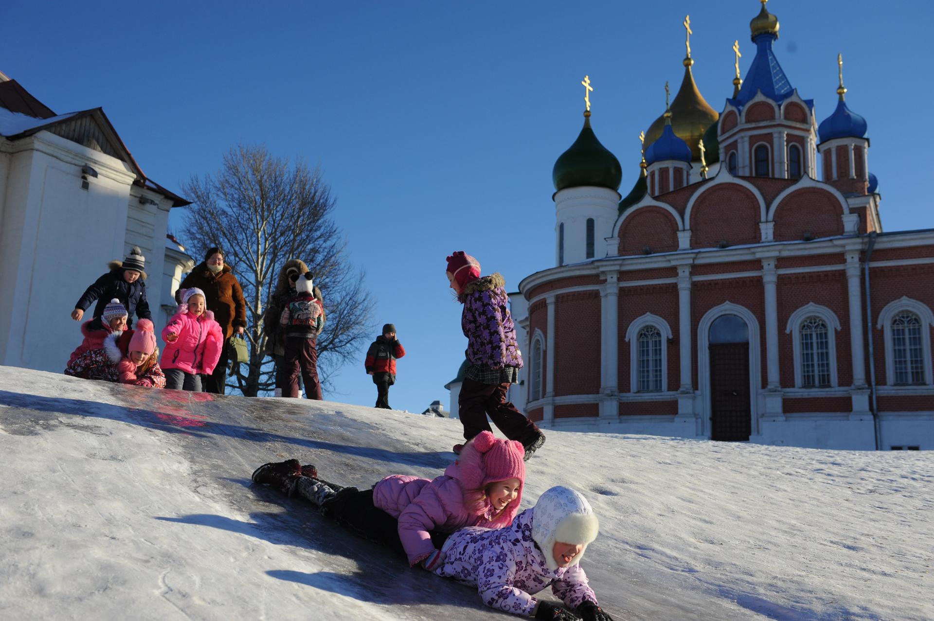
[[[710,346],[711,440],[745,442],[752,430],[749,344]]]

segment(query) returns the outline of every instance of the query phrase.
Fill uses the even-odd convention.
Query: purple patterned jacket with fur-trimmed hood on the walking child
[[[505,285],[497,273],[472,280],[460,294],[464,303],[460,327],[468,340],[464,353],[471,364],[486,364],[491,369],[522,368]]]

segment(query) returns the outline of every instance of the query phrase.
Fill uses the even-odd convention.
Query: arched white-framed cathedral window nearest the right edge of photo
[[[877,329],[884,331],[885,383],[888,386],[930,386],[931,327],[934,313],[925,303],[903,296],[879,313]]]

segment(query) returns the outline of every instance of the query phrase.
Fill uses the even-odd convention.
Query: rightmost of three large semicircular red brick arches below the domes
[[[820,188],[792,191],[775,206],[775,241],[843,234],[843,207],[840,199]]]

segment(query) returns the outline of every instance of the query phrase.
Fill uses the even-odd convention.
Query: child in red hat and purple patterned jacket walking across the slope
[[[518,381],[522,368],[506,281],[498,273],[481,277],[480,262],[462,250],[447,258],[447,279],[464,305],[460,328],[468,340],[464,353],[470,366],[458,397],[464,439],[488,431],[489,416],[507,438],[522,443],[529,459],[545,444],[545,434],[506,401],[509,385]],[[454,452],[460,454],[462,446],[455,445]]]

